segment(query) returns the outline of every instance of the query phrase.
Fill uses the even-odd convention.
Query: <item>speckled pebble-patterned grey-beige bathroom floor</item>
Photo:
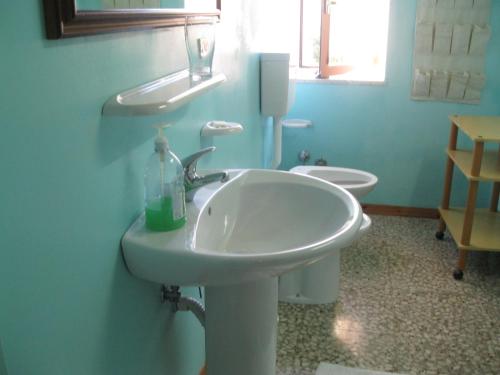
[[[339,300],[279,304],[279,375],[320,362],[402,374],[500,375],[500,253],[457,251],[437,220],[372,216],[342,250]]]

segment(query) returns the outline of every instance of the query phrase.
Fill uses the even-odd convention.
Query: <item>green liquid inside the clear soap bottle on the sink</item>
[[[152,200],[146,207],[146,227],[152,231],[179,229],[185,223],[186,217],[174,220],[171,197]]]

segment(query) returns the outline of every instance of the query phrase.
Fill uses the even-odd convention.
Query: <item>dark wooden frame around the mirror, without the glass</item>
[[[189,12],[186,9],[117,9],[79,11],[76,0],[43,0],[48,39],[70,38],[118,31],[183,26],[186,17],[194,23],[220,18],[221,1],[213,12]]]

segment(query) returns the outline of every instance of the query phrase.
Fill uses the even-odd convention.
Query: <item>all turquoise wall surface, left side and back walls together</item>
[[[450,113],[500,114],[500,4],[480,106],[408,99],[415,1],[393,1],[383,86],[301,84],[284,131],[284,167],[313,158],[376,173],[375,203],[435,206]],[[258,58],[249,53],[250,1],[224,2],[216,66],[228,82],[173,115],[106,118],[113,94],[184,68],[181,29],[48,41],[41,2],[5,2],[0,15],[0,355],[9,375],[196,374],[203,331],[159,304],[157,285],[126,270],[120,238],[142,209],[151,125],[179,156],[200,148],[213,119],[244,133],[215,140],[206,167],[262,165]],[[227,15],[231,15],[228,17]],[[458,177],[457,177],[458,178]],[[186,290],[195,294],[195,290]],[[3,360],[2,358],[3,357]]]

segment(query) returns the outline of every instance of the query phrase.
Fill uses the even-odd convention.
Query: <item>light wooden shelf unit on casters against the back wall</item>
[[[500,251],[500,148],[498,151],[484,151],[485,142],[500,144],[500,117],[450,116],[450,120],[450,139],[446,150],[448,160],[436,236],[442,238],[448,227],[459,249],[457,269],[453,275],[461,279],[467,251]],[[458,130],[474,142],[473,150],[457,150]],[[465,208],[450,208],[454,166],[469,181]],[[493,183],[489,209],[476,210],[479,182]]]

